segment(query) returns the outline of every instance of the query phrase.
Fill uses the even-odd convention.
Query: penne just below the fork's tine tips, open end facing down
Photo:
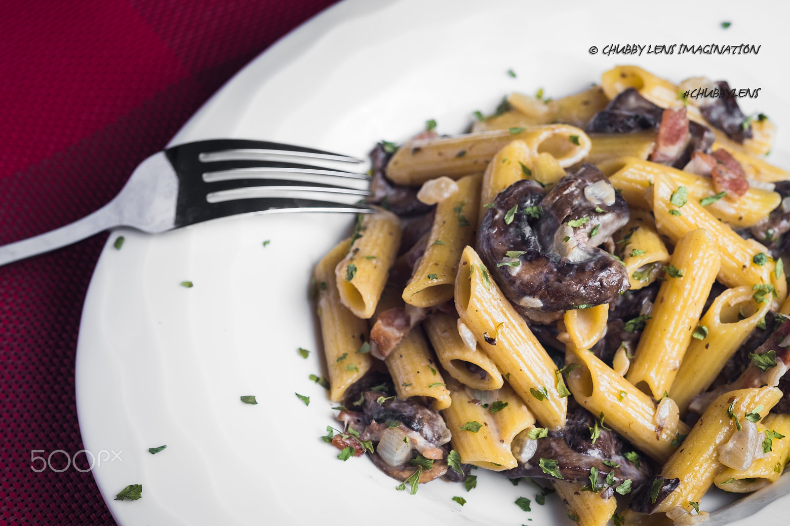
[[[358,223],[351,250],[335,268],[340,301],[356,317],[369,318],[376,310],[401,245],[401,220],[379,209]]]

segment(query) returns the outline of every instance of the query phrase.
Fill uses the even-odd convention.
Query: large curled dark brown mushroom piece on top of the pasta
[[[585,192],[591,187],[596,190]],[[545,195],[539,184],[523,179],[502,190],[483,216],[480,257],[521,314],[600,305],[628,289],[625,267],[596,248],[628,221],[623,197],[613,193],[612,200],[602,187],[611,189],[592,164]],[[516,272],[506,259],[509,251],[523,253]],[[508,265],[498,266],[502,262]]]

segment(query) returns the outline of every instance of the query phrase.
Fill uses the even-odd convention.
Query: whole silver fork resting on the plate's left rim
[[[319,165],[282,161],[294,157]],[[370,178],[331,167],[331,163],[363,161],[313,148],[240,139],[167,148],[140,163],[118,195],[96,212],[53,231],[0,246],[0,265],[70,245],[112,227],[158,234],[243,213],[373,212],[358,204],[370,194]]]

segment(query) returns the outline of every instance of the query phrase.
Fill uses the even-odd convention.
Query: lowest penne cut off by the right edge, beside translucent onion
[[[762,425],[760,425],[762,424]],[[758,430],[772,430],[790,437],[790,415],[774,415],[771,413],[758,424]],[[776,482],[790,460],[790,438],[769,438],[771,451],[763,458],[755,458],[749,468],[739,471],[725,468],[713,477],[713,483],[724,491],[732,493],[748,493],[757,491],[770,483]],[[765,448],[763,448],[765,449]]]

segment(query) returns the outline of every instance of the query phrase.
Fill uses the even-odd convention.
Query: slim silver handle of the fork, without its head
[[[0,266],[71,245],[101,231],[118,226],[115,203],[111,201],[81,220],[32,238],[0,246]]]

